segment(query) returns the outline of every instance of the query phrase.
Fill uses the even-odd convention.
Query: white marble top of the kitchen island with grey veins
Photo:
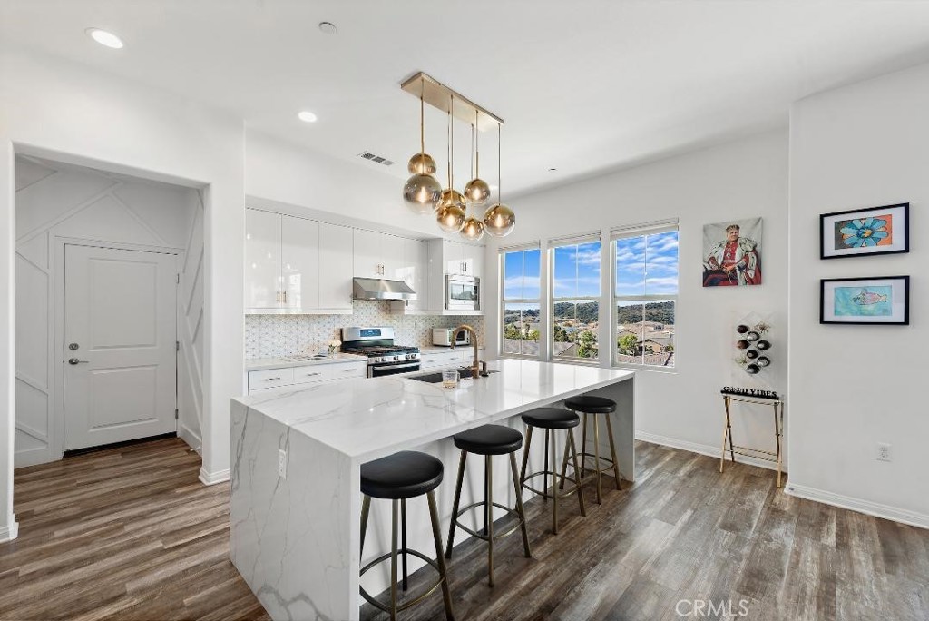
[[[488,366],[499,373],[474,380],[467,389],[388,376],[233,401],[363,463],[635,375],[530,360],[496,360]]]

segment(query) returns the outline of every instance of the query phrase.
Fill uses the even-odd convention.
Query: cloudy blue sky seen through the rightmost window
[[[616,241],[616,295],[677,294],[677,231]]]

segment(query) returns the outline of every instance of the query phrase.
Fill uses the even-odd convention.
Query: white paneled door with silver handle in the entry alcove
[[[64,448],[177,430],[177,257],[65,246]]]

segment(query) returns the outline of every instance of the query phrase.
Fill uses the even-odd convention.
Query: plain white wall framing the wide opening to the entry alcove
[[[203,187],[203,469],[229,476],[229,396],[241,394],[242,121],[80,65],[0,56],[0,538],[12,512],[14,151]]]

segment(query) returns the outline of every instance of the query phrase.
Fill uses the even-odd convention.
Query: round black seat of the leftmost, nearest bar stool
[[[416,451],[400,451],[361,464],[361,493],[375,498],[412,498],[438,487],[442,462]]]

